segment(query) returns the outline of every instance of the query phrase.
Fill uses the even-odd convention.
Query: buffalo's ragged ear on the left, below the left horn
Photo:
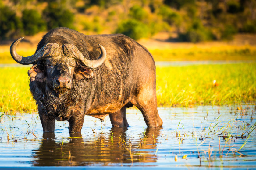
[[[30,81],[43,81],[46,78],[46,74],[44,72],[44,68],[41,64],[35,64],[30,67],[30,70],[27,72],[28,76],[30,76]]]

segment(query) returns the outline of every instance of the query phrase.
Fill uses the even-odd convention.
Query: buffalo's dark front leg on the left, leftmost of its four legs
[[[54,132],[55,129],[55,118],[48,116],[46,111],[38,106],[38,114],[41,120],[41,124],[44,132]]]

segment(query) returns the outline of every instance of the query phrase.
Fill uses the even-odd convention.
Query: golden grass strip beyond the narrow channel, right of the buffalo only
[[[175,49],[152,49],[155,61],[256,60],[254,46],[180,46]]]

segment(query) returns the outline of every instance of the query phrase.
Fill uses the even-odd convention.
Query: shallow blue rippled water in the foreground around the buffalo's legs
[[[69,134],[67,121],[56,121],[55,133],[43,133],[37,113],[4,115],[0,124],[0,169],[256,166],[254,105],[158,108],[158,112],[163,120],[163,127],[158,128],[148,128],[137,109],[127,109],[130,127],[124,128],[112,127],[108,117],[100,122],[86,116],[81,134]]]

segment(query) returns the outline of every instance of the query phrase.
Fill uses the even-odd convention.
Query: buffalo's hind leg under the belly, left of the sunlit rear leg
[[[126,107],[122,107],[120,110],[118,110],[115,113],[109,114],[109,118],[112,124],[112,127],[129,127],[129,124],[126,120]]]

